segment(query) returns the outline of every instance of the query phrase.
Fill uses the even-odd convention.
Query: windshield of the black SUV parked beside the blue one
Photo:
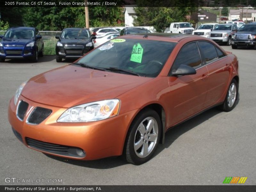
[[[90,33],[86,29],[64,29],[61,34],[63,39],[88,39]]]

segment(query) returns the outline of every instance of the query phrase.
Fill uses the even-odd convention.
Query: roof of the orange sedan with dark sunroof
[[[168,42],[176,42],[178,43],[180,40],[188,38],[190,41],[196,40],[206,40],[209,41],[208,38],[195,36],[195,35],[188,35],[188,34],[181,34],[181,33],[148,33],[147,37],[144,38],[146,33],[140,34],[132,34],[132,35],[124,35],[122,38],[129,38],[129,39],[147,39],[147,40],[156,40],[156,41],[168,41]]]

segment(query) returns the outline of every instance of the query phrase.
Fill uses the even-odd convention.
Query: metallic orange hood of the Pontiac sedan
[[[152,78],[66,65],[31,78],[21,95],[38,103],[69,108],[116,98],[150,80]]]

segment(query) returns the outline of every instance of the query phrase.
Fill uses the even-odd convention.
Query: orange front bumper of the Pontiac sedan
[[[36,103],[22,95],[19,99],[27,102],[29,106],[24,120],[21,121],[16,116],[17,109],[13,98],[10,100],[8,119],[16,137],[28,148],[55,156],[80,160],[94,160],[122,155],[126,133],[137,111],[133,110],[95,122],[59,123],[57,119],[67,108]],[[27,119],[32,111],[30,108],[34,107],[51,109],[52,114],[38,125],[28,124]],[[32,145],[30,145],[31,142]],[[33,145],[33,142],[36,144]],[[77,150],[77,155],[45,150],[44,146],[51,147],[52,145],[53,147],[58,145]]]

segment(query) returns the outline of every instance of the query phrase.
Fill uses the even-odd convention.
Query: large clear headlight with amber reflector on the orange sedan
[[[78,105],[66,110],[57,122],[100,121],[116,116],[119,111],[118,99],[102,100]]]

